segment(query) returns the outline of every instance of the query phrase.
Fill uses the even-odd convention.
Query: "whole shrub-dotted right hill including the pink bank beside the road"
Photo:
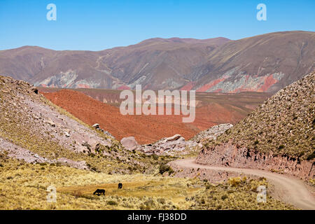
[[[283,88],[216,141],[197,162],[314,178],[315,73]]]

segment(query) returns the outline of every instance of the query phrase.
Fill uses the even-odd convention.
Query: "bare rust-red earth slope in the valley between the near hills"
[[[116,139],[134,136],[139,144],[150,144],[163,137],[181,134],[190,139],[202,130],[219,123],[235,124],[246,116],[246,111],[232,109],[218,103],[207,103],[196,108],[194,123],[182,123],[182,116],[123,116],[119,108],[104,104],[87,94],[76,90],[59,90],[41,93],[52,103],[62,107],[88,125],[99,123],[102,129],[110,132]],[[250,111],[249,109],[247,109]]]

